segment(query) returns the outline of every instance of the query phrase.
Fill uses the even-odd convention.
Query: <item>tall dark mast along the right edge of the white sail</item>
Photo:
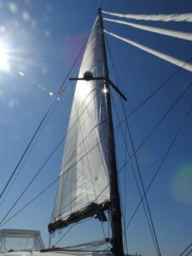
[[[109,170],[110,170],[110,197],[111,197],[111,228],[112,228],[112,244],[113,244],[113,254],[115,256],[123,256],[123,239],[122,239],[122,225],[121,225],[121,210],[120,210],[120,199],[119,199],[119,184],[118,184],[118,174],[115,156],[115,144],[113,137],[113,117],[111,109],[111,97],[109,88],[109,78],[108,78],[108,61],[107,52],[105,47],[105,38],[103,33],[102,24],[102,9],[99,11],[100,23],[102,27],[102,55],[103,55],[103,66],[105,73],[105,85],[106,85],[106,106],[107,106],[107,116],[108,116],[108,150],[109,150]]]

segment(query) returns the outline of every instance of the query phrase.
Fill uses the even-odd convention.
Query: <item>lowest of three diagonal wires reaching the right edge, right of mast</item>
[[[175,137],[173,137],[172,143],[170,143],[169,147],[167,148],[166,154],[164,155],[163,159],[161,160],[160,165],[158,166],[156,172],[154,172],[154,176],[152,177],[150,183],[148,184],[148,187],[147,187],[147,189],[145,190],[145,194],[148,193],[148,189],[151,187],[152,183],[154,183],[155,177],[157,176],[158,172],[160,172],[160,168],[163,166],[163,164],[164,164],[164,162],[165,162],[165,160],[166,160],[168,154],[170,153],[170,151],[171,151],[171,149],[172,149],[174,143],[177,141],[178,135],[179,135],[179,134],[181,133],[181,131],[183,130],[183,126],[185,125],[186,121],[188,120],[189,114],[191,113],[191,110],[192,110],[192,107],[189,109],[188,113],[186,114],[185,118],[183,119],[183,122],[182,122],[182,124],[180,125],[179,129],[177,130],[177,133],[176,133]],[[143,198],[144,198],[144,196],[145,196],[145,195],[143,195]],[[125,231],[127,230],[128,226],[131,224],[131,221],[132,221],[133,217],[135,216],[135,214],[136,214],[138,208],[140,207],[140,205],[141,205],[141,203],[142,203],[142,201],[143,201],[143,198],[142,198],[142,200],[138,203],[135,212],[133,212],[129,223],[126,225]]]

